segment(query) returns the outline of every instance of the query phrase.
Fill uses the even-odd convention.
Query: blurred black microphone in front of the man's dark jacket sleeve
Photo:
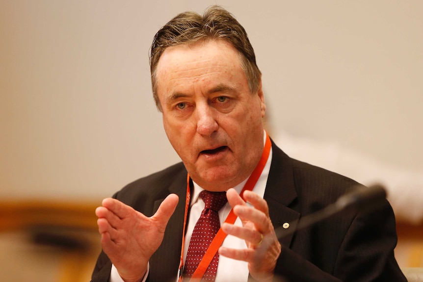
[[[326,206],[325,208],[300,218],[295,228],[287,231],[283,227],[275,230],[276,236],[280,239],[295,231],[309,227],[323,219],[326,219],[346,208],[354,208],[357,211],[370,211],[384,202],[386,199],[386,190],[380,184],[371,185],[369,187],[357,186],[351,192],[348,192],[338,200]]]

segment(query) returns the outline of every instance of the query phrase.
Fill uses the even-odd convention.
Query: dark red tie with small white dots
[[[184,282],[189,281],[198,264],[203,258],[204,254],[209,248],[210,243],[217,231],[220,229],[218,211],[226,202],[226,192],[210,192],[201,191],[201,199],[205,203],[205,207],[201,212],[201,216],[195,224],[192,231],[191,240],[189,241],[188,253],[186,254],[184,267]],[[212,262],[209,265],[202,281],[214,281],[217,271],[217,262],[219,260],[219,253],[214,255]]]

